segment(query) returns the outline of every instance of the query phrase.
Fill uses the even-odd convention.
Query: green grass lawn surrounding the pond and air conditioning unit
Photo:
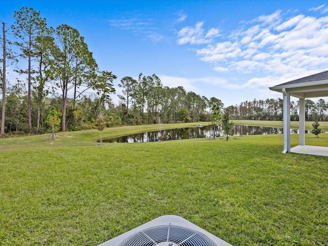
[[[103,136],[134,131],[142,127]],[[319,136],[305,143],[328,146]],[[166,214],[233,245],[328,245],[328,158],[281,154],[282,135],[104,146],[97,138],[0,139],[0,245],[97,245]]]

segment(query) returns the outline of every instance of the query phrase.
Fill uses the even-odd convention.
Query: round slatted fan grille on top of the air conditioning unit
[[[195,230],[173,226],[151,227],[122,241],[118,246],[217,246],[206,235]]]

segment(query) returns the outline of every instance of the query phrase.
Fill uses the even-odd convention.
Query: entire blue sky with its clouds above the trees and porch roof
[[[7,26],[24,6],[77,29],[99,69],[117,75],[118,94],[122,77],[142,72],[228,107],[282,97],[269,87],[328,70],[328,1],[0,3]]]

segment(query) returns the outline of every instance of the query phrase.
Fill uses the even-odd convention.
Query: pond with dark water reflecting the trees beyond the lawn
[[[254,127],[234,125],[234,136],[241,135],[262,135],[262,134],[282,134],[282,128],[272,127]],[[298,130],[291,130],[291,133],[297,133]],[[152,132],[136,133],[127,136],[104,138],[103,142],[153,142],[168,141],[191,138],[210,138],[214,136],[214,126],[177,128],[169,130],[157,130]],[[216,136],[223,136],[223,132],[216,126]]]

